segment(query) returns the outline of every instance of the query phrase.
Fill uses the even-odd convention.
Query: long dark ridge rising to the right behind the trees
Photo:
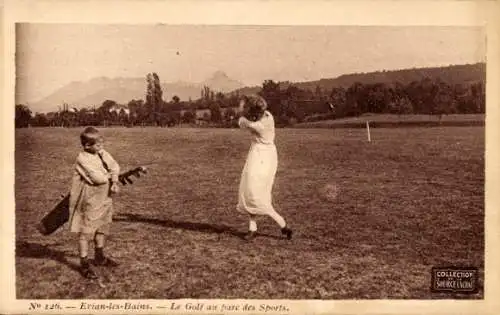
[[[391,84],[399,82],[407,85],[412,81],[420,81],[423,78],[437,79],[454,85],[468,84],[486,80],[486,64],[476,63],[467,65],[451,65],[445,67],[432,68],[413,68],[391,71],[376,71],[368,73],[353,73],[341,75],[332,79],[321,79],[308,82],[295,82],[295,86],[301,89],[314,91],[316,86],[322,90],[331,90],[334,87],[348,88],[355,82],[362,84],[386,83]],[[290,83],[282,83],[282,88],[286,88]],[[255,94],[261,87],[244,87],[237,90],[240,94]]]

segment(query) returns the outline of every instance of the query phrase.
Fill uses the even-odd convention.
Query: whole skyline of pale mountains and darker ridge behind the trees
[[[376,71],[369,73],[354,73],[341,75],[336,78],[321,79],[308,82],[286,82],[282,87],[294,84],[301,89],[313,90],[319,86],[322,90],[331,90],[334,87],[348,88],[355,82],[409,84],[423,78],[441,79],[450,84],[469,84],[486,79],[486,64],[450,65],[444,67],[413,68],[391,71]],[[201,95],[203,86],[222,93],[237,91],[240,94],[254,94],[260,90],[259,86],[248,87],[241,82],[229,78],[224,72],[217,71],[203,82],[170,82],[162,83],[163,99],[170,100],[177,95],[181,100],[190,98],[195,100]],[[30,104],[32,112],[49,112],[57,110],[63,103],[71,107],[81,108],[100,106],[105,100],[114,100],[119,104],[127,104],[132,99],[144,99],[146,91],[145,78],[94,78],[86,82],[72,82],[55,91],[42,100]]]

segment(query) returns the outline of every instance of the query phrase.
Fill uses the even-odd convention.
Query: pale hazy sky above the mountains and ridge
[[[201,82],[215,71],[245,85],[485,60],[485,33],[465,26],[202,26],[18,24],[16,101],[73,81],[145,77]]]

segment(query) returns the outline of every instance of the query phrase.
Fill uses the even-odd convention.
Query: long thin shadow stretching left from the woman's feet
[[[113,218],[115,222],[139,222],[159,225],[167,228],[182,229],[188,231],[196,231],[202,233],[213,233],[213,234],[229,234],[240,239],[244,239],[245,232],[238,231],[233,227],[223,225],[223,224],[209,224],[209,223],[199,223],[199,222],[185,222],[185,221],[174,221],[169,219],[155,219],[148,218],[132,213],[121,213],[119,216]],[[279,238],[275,235],[258,233],[259,236]]]

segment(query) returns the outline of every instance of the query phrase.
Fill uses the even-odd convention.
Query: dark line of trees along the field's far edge
[[[259,88],[279,126],[302,121],[336,119],[364,113],[428,114],[439,118],[447,114],[485,112],[484,81],[449,84],[439,78],[423,78],[408,84],[355,82],[350,87],[330,90],[316,86],[314,90],[299,88],[290,82],[266,80]],[[224,94],[203,87],[196,100],[182,101],[178,96],[163,99],[160,78],[146,76],[145,99],[117,104],[104,100],[98,107],[62,109],[47,114],[32,114],[28,106],[16,105],[16,128],[27,126],[161,126],[203,124],[234,126],[241,95],[238,91]]]

